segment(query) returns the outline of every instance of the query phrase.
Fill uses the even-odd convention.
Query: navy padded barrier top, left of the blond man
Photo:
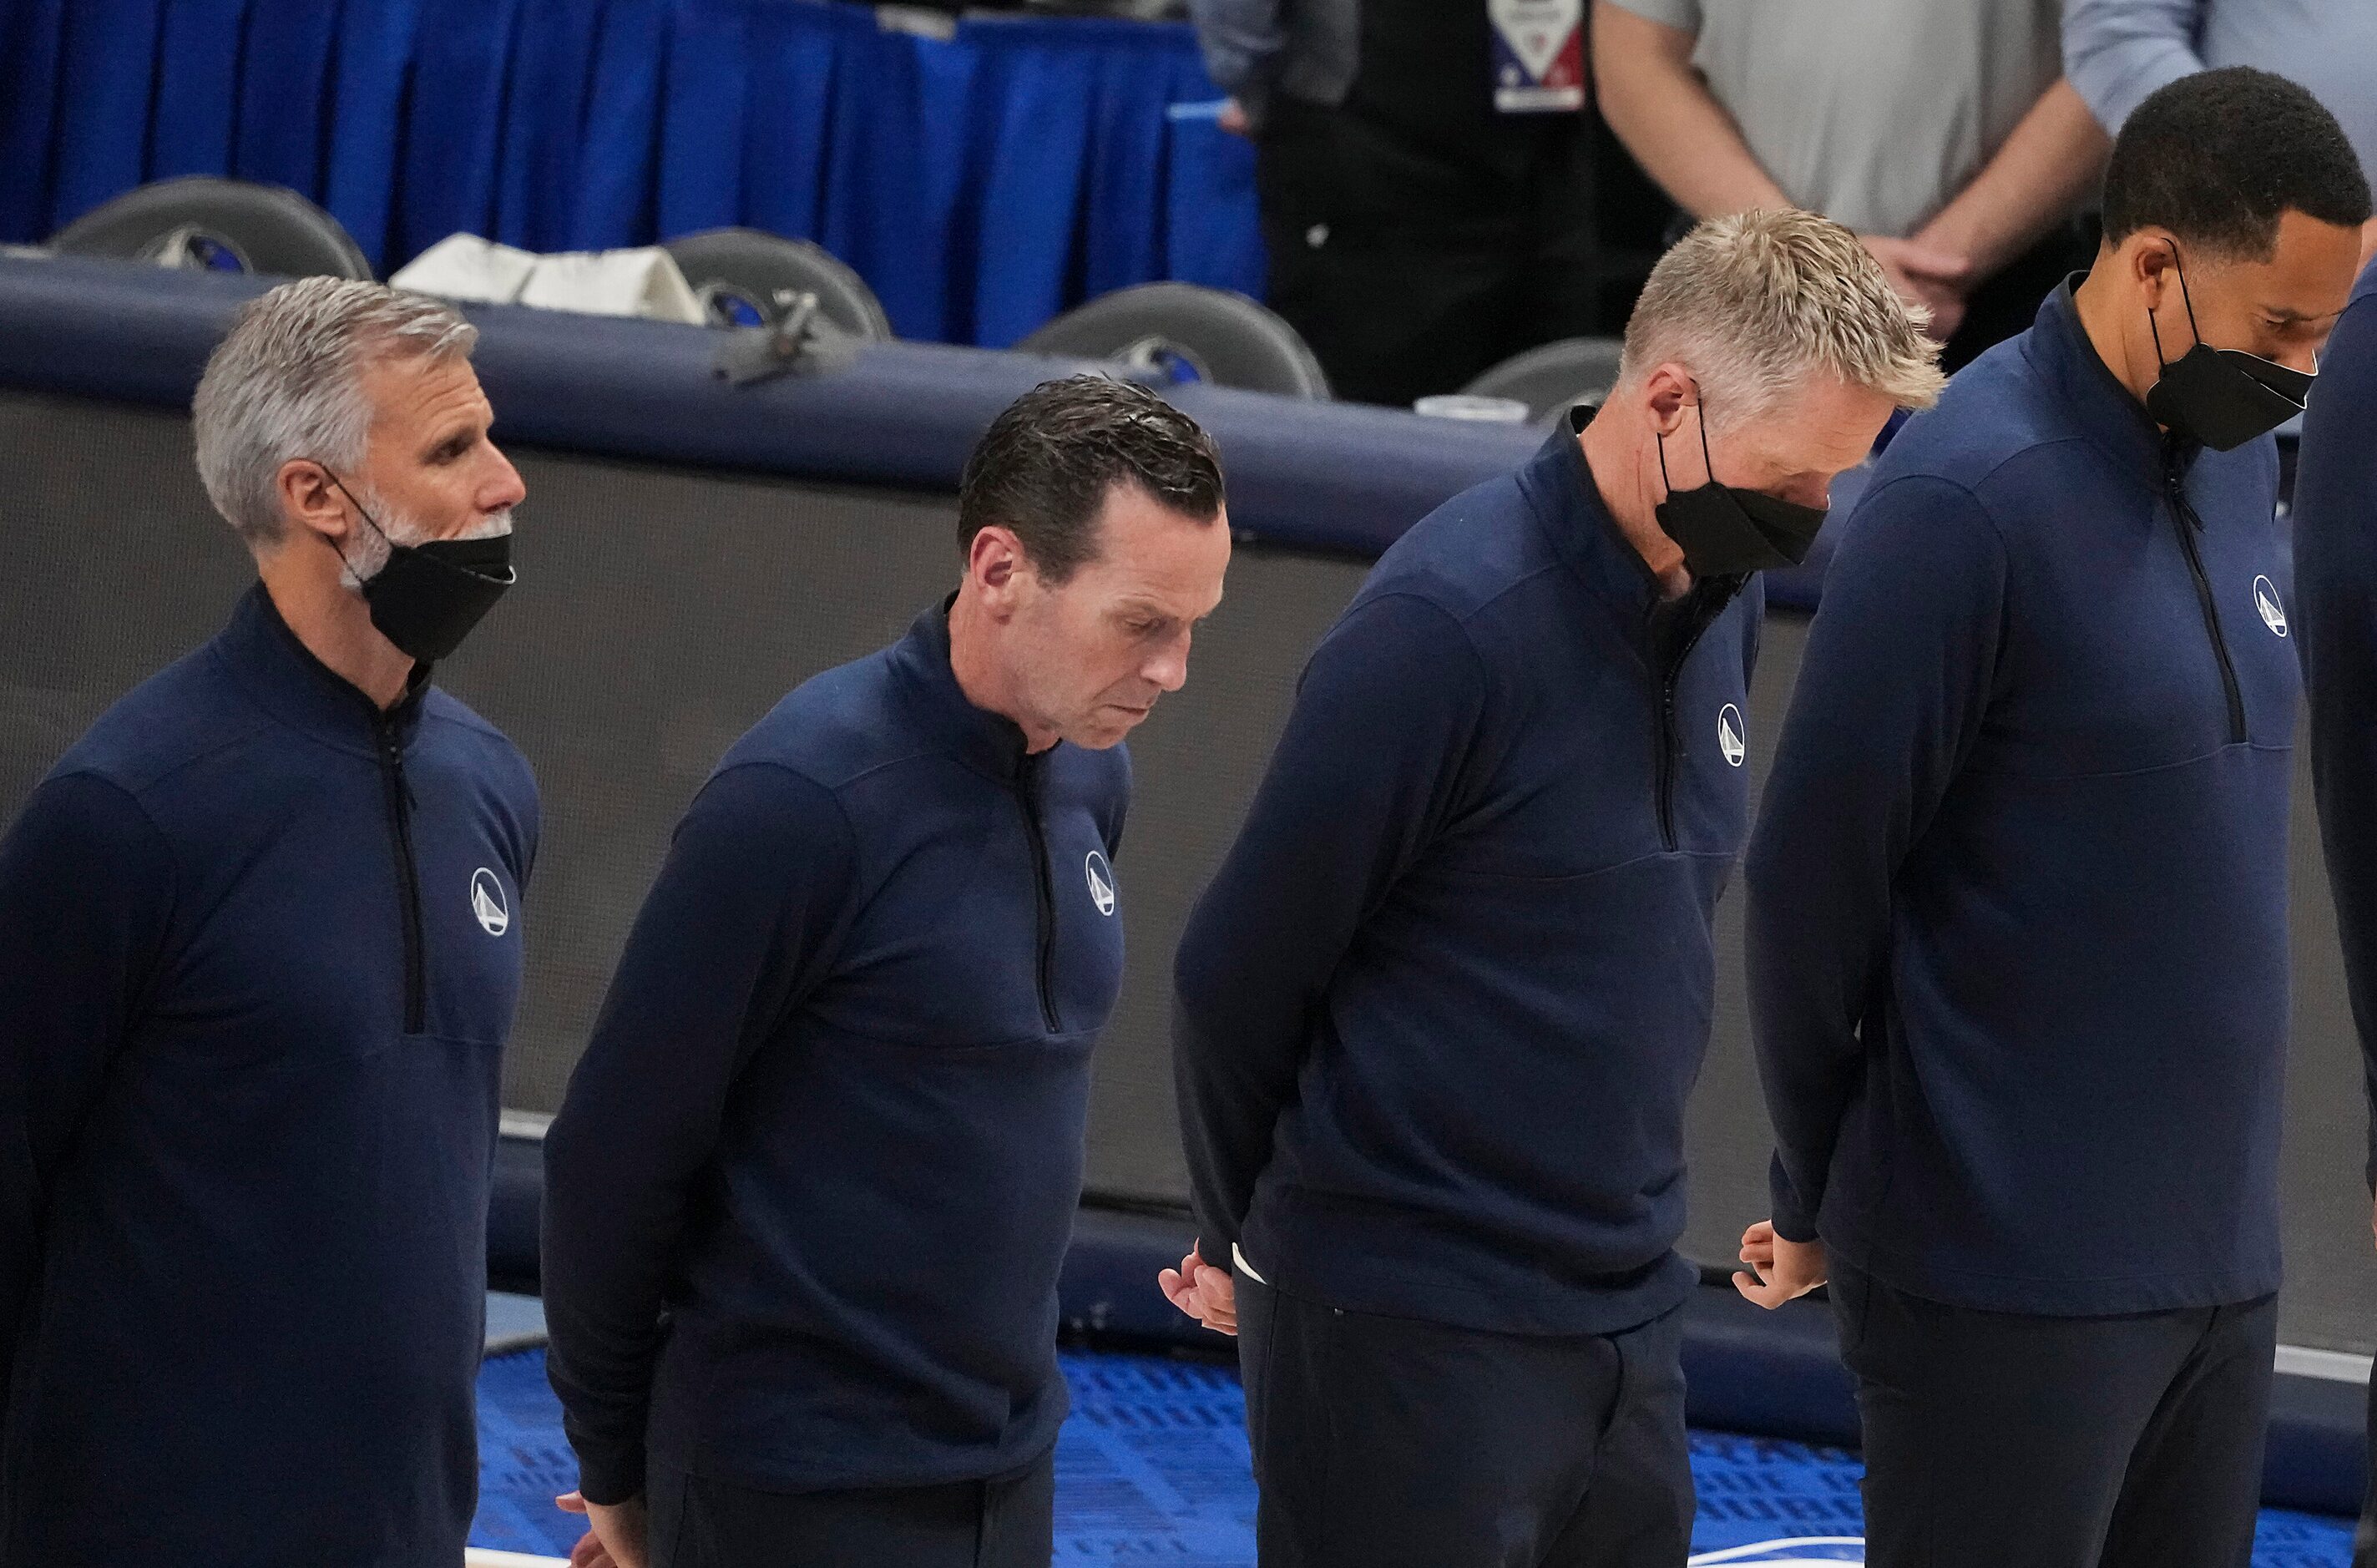
[[[254,278],[128,261],[0,259],[0,385],[188,404]],[[956,492],[975,440],[1015,397],[1086,366],[889,342],[837,375],[732,387],[720,335],[518,306],[471,306],[499,442]],[[1229,516],[1272,544],[1379,554],[1448,497],[1509,473],[1543,432],[1357,404],[1165,392],[1212,430]]]

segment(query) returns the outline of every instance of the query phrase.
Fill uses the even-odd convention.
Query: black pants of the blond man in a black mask
[[[1474,1333],[1238,1278],[1262,1568],[1681,1568],[1683,1311]]]

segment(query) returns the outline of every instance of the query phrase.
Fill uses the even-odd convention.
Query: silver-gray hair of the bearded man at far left
[[[478,328],[449,304],[380,283],[297,278],[250,299],[190,399],[197,478],[223,520],[280,544],[280,466],[314,459],[354,478],[371,440],[364,371],[390,359],[468,359]]]

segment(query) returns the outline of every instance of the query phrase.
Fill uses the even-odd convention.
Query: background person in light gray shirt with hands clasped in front
[[[1595,0],[1593,78],[1695,219],[1854,228],[1949,368],[2094,252],[2070,216],[2111,143],[2061,78],[2056,0]]]

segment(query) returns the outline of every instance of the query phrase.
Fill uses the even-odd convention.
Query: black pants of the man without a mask
[[[754,1492],[654,1463],[651,1568],[1048,1568],[1055,1452],[998,1480]]]

